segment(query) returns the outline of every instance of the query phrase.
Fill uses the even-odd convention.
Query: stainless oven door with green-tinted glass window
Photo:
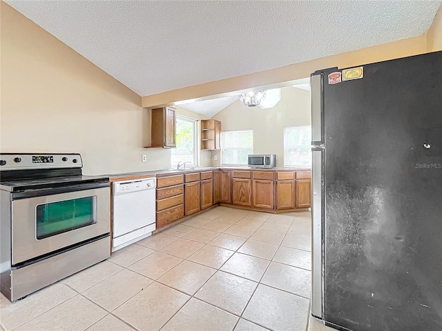
[[[111,192],[104,185],[12,195],[12,265],[109,233]]]

